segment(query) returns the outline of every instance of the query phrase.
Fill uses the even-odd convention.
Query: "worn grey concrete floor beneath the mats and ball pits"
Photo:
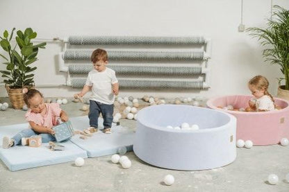
[[[0,98],[0,102],[8,101]],[[81,116],[83,104],[69,102],[63,110]],[[8,108],[0,111],[0,126],[24,123],[25,112]],[[122,119],[121,125],[135,129],[136,122]],[[1,131],[1,130],[0,130]],[[285,175],[289,173],[289,146],[238,148],[235,162],[206,171],[172,171],[142,162],[133,152],[126,155],[132,166],[123,169],[110,162],[110,155],[85,159],[83,167],[74,162],[10,172],[0,161],[0,191],[289,191]],[[267,176],[279,176],[276,185],[267,184]],[[174,175],[175,183],[162,180]]]

